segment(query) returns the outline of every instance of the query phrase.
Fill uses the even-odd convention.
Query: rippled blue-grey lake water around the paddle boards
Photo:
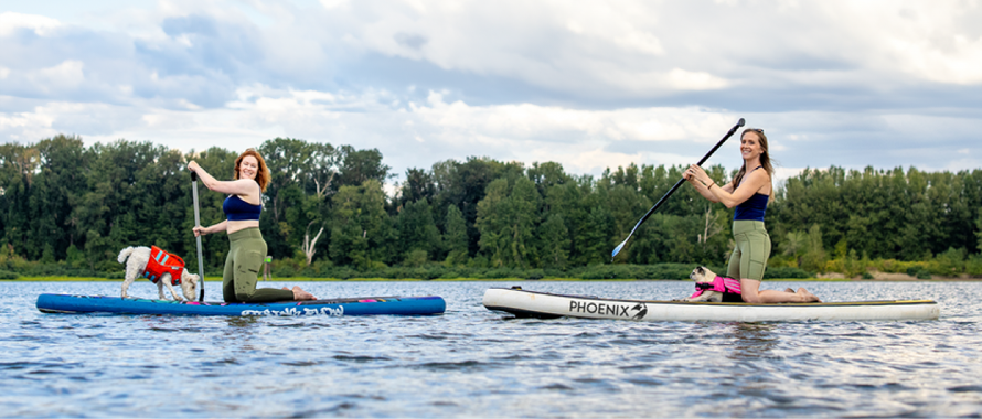
[[[292,284],[260,282],[260,287]],[[938,321],[639,323],[485,310],[490,287],[665,300],[683,281],[303,282],[424,296],[437,316],[44,314],[0,281],[4,417],[979,417],[982,282],[765,282],[826,301],[932,299]],[[221,296],[209,282],[209,300]],[[137,283],[137,297],[157,288]]]

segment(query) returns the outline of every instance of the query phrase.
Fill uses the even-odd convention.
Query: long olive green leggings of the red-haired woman
[[[228,257],[222,275],[225,302],[273,302],[293,299],[293,291],[275,288],[256,289],[259,270],[266,259],[266,240],[259,227],[244,228],[228,235]]]

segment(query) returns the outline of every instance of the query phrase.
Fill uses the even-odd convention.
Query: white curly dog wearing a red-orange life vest
[[[128,298],[126,290],[134,283],[137,277],[146,277],[157,284],[157,291],[161,300],[166,300],[163,287],[171,291],[174,300],[183,299],[174,292],[174,284],[181,286],[181,291],[188,301],[193,301],[198,294],[198,283],[201,278],[189,273],[184,269],[184,260],[159,247],[127,247],[119,253],[120,264],[126,264],[126,280],[122,281],[122,298]],[[179,277],[180,276],[180,277]]]

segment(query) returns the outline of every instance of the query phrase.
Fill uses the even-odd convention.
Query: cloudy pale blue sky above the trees
[[[982,168],[982,1],[0,0],[0,141]],[[709,160],[736,169],[738,141]]]

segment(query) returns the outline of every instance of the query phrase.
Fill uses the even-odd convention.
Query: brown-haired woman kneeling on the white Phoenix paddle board
[[[736,207],[733,215],[736,247],[729,257],[726,276],[739,278],[744,302],[821,302],[804,288],[799,288],[798,292],[791,292],[791,289],[760,290],[760,281],[764,280],[764,270],[770,257],[770,236],[764,227],[764,213],[773,193],[773,166],[767,149],[764,130],[748,128],[740,136],[744,166],[733,182],[718,186],[695,164],[689,166],[682,176],[706,200],[723,203],[727,208]]]

